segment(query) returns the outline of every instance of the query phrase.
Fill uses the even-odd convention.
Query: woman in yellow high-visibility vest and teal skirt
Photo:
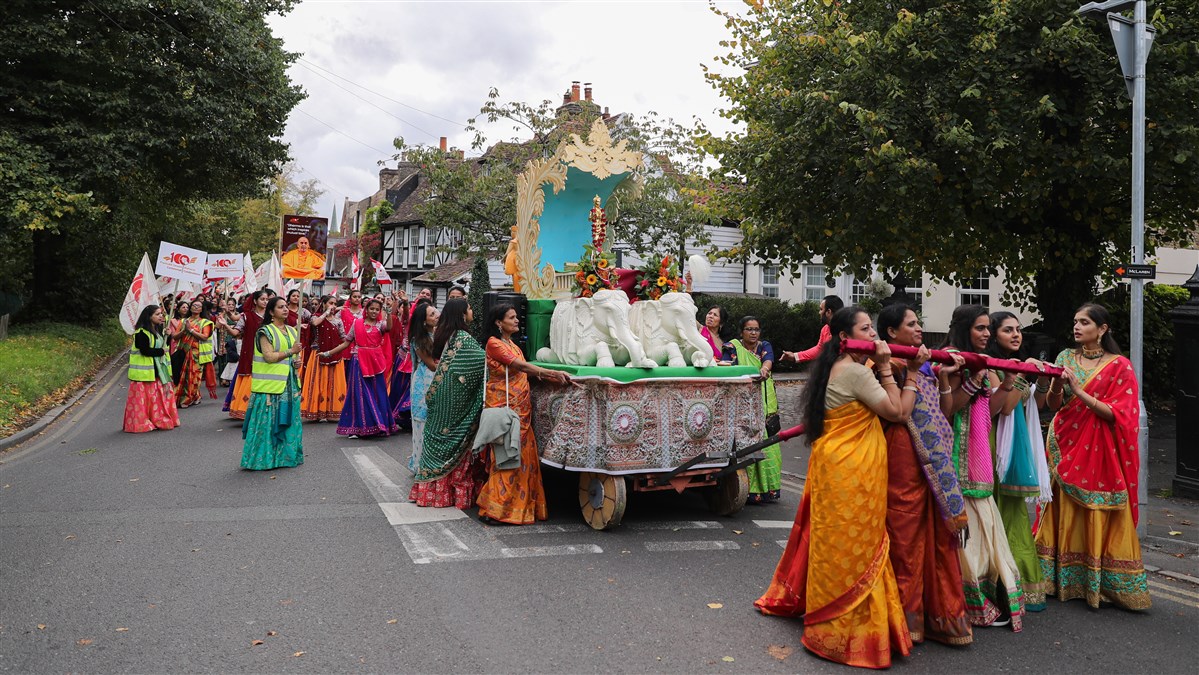
[[[300,331],[288,325],[288,303],[266,303],[269,323],[254,335],[249,404],[241,438],[241,468],[261,471],[303,464],[300,427],[300,380],[296,356],[303,350]]]

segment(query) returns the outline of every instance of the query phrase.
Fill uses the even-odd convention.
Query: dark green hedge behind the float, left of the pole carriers
[[[737,337],[737,326],[742,317],[757,317],[761,324],[761,339],[775,348],[778,356],[787,351],[807,349],[820,338],[820,305],[801,302],[790,305],[773,297],[753,297],[747,295],[716,295],[693,293],[698,313],[695,320],[704,323],[704,317],[713,306],[719,305],[729,313],[729,325],[725,326],[724,340]],[[776,363],[776,369],[794,370],[795,363]]]

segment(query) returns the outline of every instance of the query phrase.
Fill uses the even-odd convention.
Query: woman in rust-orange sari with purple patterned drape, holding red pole
[[[920,318],[905,305],[891,305],[879,313],[879,333],[891,344],[924,344]],[[968,645],[974,634],[958,560],[968,518],[953,470],[953,429],[940,405],[952,393],[950,374],[964,360],[954,356],[952,366],[935,374],[929,364],[891,362],[897,366],[896,381],[900,373],[915,374],[912,386],[918,390],[911,416],[882,426],[887,438],[887,536],[899,542],[891,547],[891,566],[908,631],[916,643],[928,638]]]

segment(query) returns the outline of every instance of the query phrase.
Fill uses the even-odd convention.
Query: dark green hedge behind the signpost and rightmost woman
[[[1145,342],[1141,345],[1144,363],[1144,381],[1141,382],[1143,398],[1149,408],[1159,409],[1163,405],[1170,406],[1174,403],[1174,393],[1177,388],[1175,384],[1174,363],[1174,323],[1170,320],[1170,309],[1185,303],[1191,299],[1191,293],[1182,287],[1146,284],[1145,308],[1143,321],[1145,326]],[[1132,303],[1132,291],[1128,284],[1120,284],[1111,288],[1098,297],[1096,302],[1108,308],[1111,314],[1111,332],[1116,343],[1127,354],[1128,340],[1128,317]]]

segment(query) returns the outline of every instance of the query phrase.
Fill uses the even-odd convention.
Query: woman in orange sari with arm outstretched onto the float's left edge
[[[520,319],[511,305],[492,308],[487,318],[487,394],[484,408],[511,408],[520,417],[520,466],[495,469],[478,493],[478,516],[512,525],[528,525],[546,520],[546,490],[541,484],[541,456],[532,435],[532,403],[529,398],[529,375],[538,380],[566,384],[570,375],[534,366],[524,360],[512,336],[520,330]]]

